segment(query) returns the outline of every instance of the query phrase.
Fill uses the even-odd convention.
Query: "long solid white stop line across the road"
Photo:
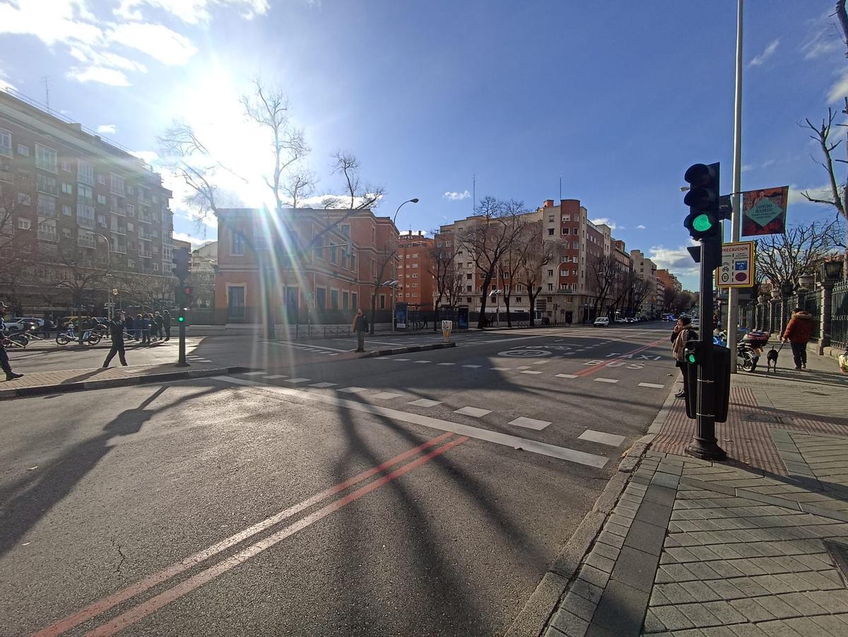
[[[302,389],[265,385],[263,383],[255,383],[252,380],[248,380],[248,378],[237,378],[232,376],[215,376],[213,378],[223,383],[248,386],[254,388],[255,391],[261,394],[300,398],[301,400],[309,400],[314,403],[324,403],[326,405],[344,407],[351,411],[361,411],[367,414],[385,416],[387,418],[393,418],[393,420],[397,420],[399,422],[409,422],[410,424],[421,425],[421,427],[430,427],[437,431],[458,433],[460,436],[468,436],[469,438],[483,440],[485,442],[502,444],[506,447],[512,447],[513,449],[521,447],[522,450],[533,454],[547,455],[551,458],[559,458],[560,460],[575,462],[589,467],[605,467],[608,461],[603,455],[589,454],[585,451],[577,451],[574,449],[568,449],[567,447],[557,447],[555,444],[542,443],[536,440],[521,438],[520,436],[513,436],[508,433],[498,433],[481,427],[471,427],[469,425],[460,424],[459,422],[451,422],[448,420],[442,420],[441,418],[434,418],[432,416],[414,414],[409,411],[399,411],[389,407],[382,407],[380,405],[370,405],[369,403],[360,402],[358,400],[347,400],[332,394],[319,394],[318,392],[307,392]]]

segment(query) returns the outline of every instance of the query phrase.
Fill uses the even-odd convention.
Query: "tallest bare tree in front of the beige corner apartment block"
[[[475,212],[481,219],[458,233],[457,239],[468,250],[477,270],[483,273],[477,328],[484,329],[488,289],[497,273],[500,260],[522,232],[523,204],[515,200],[499,201],[487,196],[480,200]]]

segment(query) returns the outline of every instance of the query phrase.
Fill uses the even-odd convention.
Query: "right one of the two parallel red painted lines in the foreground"
[[[187,593],[190,593],[192,590],[197,589],[199,586],[209,583],[219,575],[239,566],[243,562],[247,562],[251,557],[258,555],[263,550],[270,549],[271,546],[282,542],[283,539],[298,533],[298,531],[301,531],[310,526],[310,524],[318,522],[331,513],[338,511],[343,506],[347,506],[351,502],[359,500],[364,495],[370,494],[371,491],[379,489],[382,485],[400,478],[400,476],[404,475],[404,473],[410,472],[416,467],[420,467],[425,462],[432,460],[432,458],[435,458],[437,455],[444,454],[445,451],[453,449],[457,444],[462,444],[466,440],[468,440],[466,436],[451,440],[449,443],[443,444],[441,447],[430,451],[426,455],[419,456],[414,461],[405,464],[403,467],[399,467],[394,471],[387,473],[382,476],[382,478],[378,478],[374,482],[365,484],[364,487],[356,489],[353,493],[345,495],[343,498],[339,498],[318,511],[315,511],[315,513],[311,513],[307,517],[298,520],[298,522],[294,522],[286,528],[277,531],[275,534],[259,540],[256,544],[248,546],[248,548],[239,551],[236,555],[226,558],[223,562],[219,562],[218,564],[215,564],[215,566],[209,567],[197,575],[194,575],[192,578],[188,578],[184,582],[176,584],[173,588],[165,590],[165,592],[159,593],[159,595],[156,595],[155,597],[151,597],[148,601],[131,608],[129,611],[120,614],[118,617],[115,617],[109,623],[104,623],[97,629],[93,629],[86,633],[86,637],[101,637],[102,635],[110,635],[118,632],[119,630],[126,629],[131,624],[136,623],[140,619],[147,617],[152,612],[159,610],[162,606],[170,604],[171,601],[175,601],[183,595],[187,595]]]

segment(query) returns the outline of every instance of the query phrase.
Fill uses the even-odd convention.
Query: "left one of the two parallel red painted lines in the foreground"
[[[113,606],[117,606],[118,604],[129,600],[131,597],[135,597],[140,593],[143,593],[145,590],[149,590],[162,582],[178,575],[179,573],[183,573],[190,568],[196,567],[201,562],[208,560],[209,557],[215,556],[220,553],[222,550],[226,550],[231,546],[237,545],[239,542],[243,542],[245,539],[253,537],[255,534],[258,534],[261,531],[264,531],[266,528],[271,528],[278,522],[282,522],[287,517],[292,517],[296,515],[300,511],[304,511],[304,509],[308,509],[310,506],[313,506],[321,500],[326,500],[332,495],[338,494],[340,491],[344,489],[348,489],[352,487],[354,484],[360,483],[366,478],[371,478],[371,476],[383,472],[389,467],[393,467],[409,458],[412,455],[416,455],[421,451],[427,449],[428,447],[432,447],[434,444],[438,444],[442,442],[444,439],[452,436],[453,433],[443,433],[442,435],[427,440],[424,444],[419,444],[417,447],[410,449],[408,451],[404,451],[404,453],[395,455],[393,458],[382,462],[382,464],[377,465],[377,467],[373,467],[368,469],[367,471],[361,472],[358,475],[355,475],[353,478],[348,478],[343,483],[338,483],[334,487],[330,487],[324,491],[321,491],[319,494],[313,495],[311,498],[304,500],[294,506],[290,506],[287,509],[276,513],[275,515],[262,520],[261,522],[257,522],[253,526],[245,528],[243,531],[235,535],[231,535],[229,538],[223,539],[215,545],[209,546],[208,549],[204,549],[195,553],[192,556],[188,556],[181,562],[177,562],[176,564],[171,565],[170,567],[165,568],[165,570],[159,571],[159,573],[153,573],[153,575],[148,575],[148,577],[142,579],[136,584],[131,584],[126,587],[124,590],[119,590],[117,593],[113,595],[109,595],[109,597],[104,597],[102,600],[95,601],[93,604],[86,606],[79,612],[75,612],[73,615],[69,615],[68,617],[64,617],[64,619],[60,619],[58,622],[47,626],[46,629],[42,629],[35,634],[35,637],[54,637],[55,635],[62,634],[75,626],[79,626],[81,623],[87,622],[92,617],[97,617],[100,613],[106,612],[109,608]]]

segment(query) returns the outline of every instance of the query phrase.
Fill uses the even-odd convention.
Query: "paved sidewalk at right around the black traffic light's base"
[[[549,573],[561,595],[541,634],[848,635],[848,375],[781,359],[734,376],[725,462],[683,455],[695,424],[669,396],[589,514],[603,522],[577,568]]]

